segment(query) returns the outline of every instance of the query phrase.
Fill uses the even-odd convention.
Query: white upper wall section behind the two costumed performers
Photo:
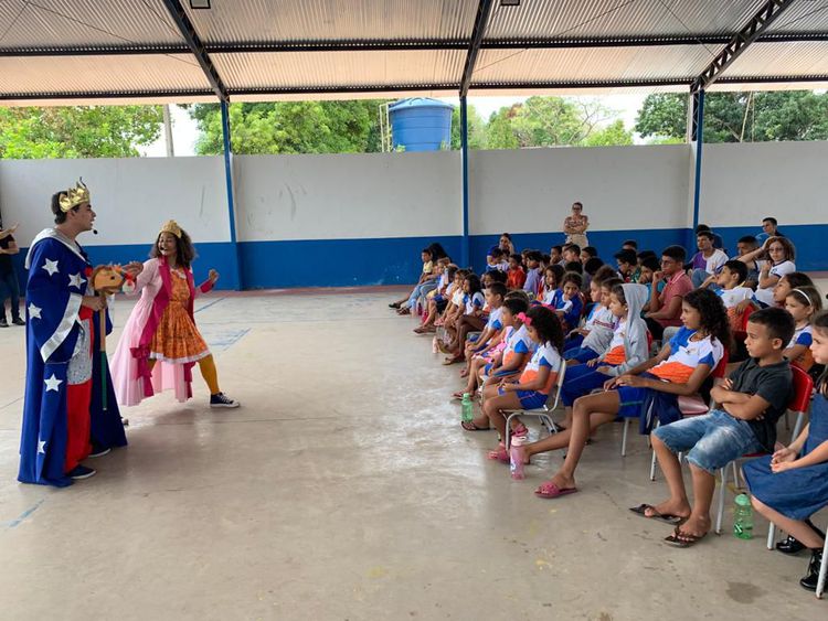
[[[22,246],[54,224],[54,192],[79,176],[89,186],[95,227],[85,246],[151,244],[174,218],[199,242],[230,240],[224,162],[215,158],[129,158],[95,160],[3,160],[0,207],[3,225],[20,223]]]

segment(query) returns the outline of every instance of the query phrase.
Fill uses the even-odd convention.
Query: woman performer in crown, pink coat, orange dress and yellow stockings
[[[190,236],[174,221],[163,225],[151,259],[136,278],[141,298],[132,309],[110,368],[118,403],[138,405],[145,397],[173,388],[176,398],[192,397],[192,367],[198,363],[210,387],[210,407],[238,407],[219,388],[213,355],[195,328],[193,300],[219,279],[195,287],[190,264],[195,256]]]

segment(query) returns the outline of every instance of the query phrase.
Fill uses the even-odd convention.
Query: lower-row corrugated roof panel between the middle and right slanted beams
[[[475,84],[643,81],[692,78],[711,61],[699,45],[484,50],[471,77]]]

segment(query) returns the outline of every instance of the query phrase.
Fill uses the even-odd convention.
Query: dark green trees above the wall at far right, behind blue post
[[[683,140],[687,106],[687,95],[649,95],[638,113],[635,129],[659,143]],[[828,94],[709,93],[704,98],[705,142],[826,139]]]

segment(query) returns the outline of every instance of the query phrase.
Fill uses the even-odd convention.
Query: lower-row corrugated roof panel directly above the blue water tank
[[[449,51],[212,54],[231,89],[457,84],[466,53]]]

